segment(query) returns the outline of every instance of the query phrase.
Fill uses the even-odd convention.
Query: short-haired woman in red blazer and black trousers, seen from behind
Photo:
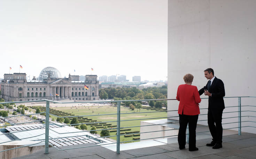
[[[179,103],[179,134],[178,134],[178,142],[179,148],[185,149],[186,145],[186,128],[188,124],[189,130],[189,151],[196,151],[196,124],[198,120],[199,111],[199,103],[201,102],[201,98],[196,86],[192,86],[192,81],[194,76],[192,74],[186,74],[184,77],[185,85],[179,85],[177,90],[176,99],[180,101]]]

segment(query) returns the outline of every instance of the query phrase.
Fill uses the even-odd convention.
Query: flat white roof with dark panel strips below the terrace
[[[24,130],[27,130],[27,131],[24,131]],[[3,128],[1,131],[2,132],[0,132],[0,134],[13,132],[10,134],[12,138],[22,139],[24,141],[44,141],[45,139],[45,124],[7,126],[5,129]],[[33,137],[33,136],[36,136],[36,137]],[[81,132],[81,130],[79,129],[76,129],[71,126],[65,126],[60,123],[58,123],[58,125],[56,124],[49,125],[49,143],[55,147],[84,144],[84,143],[96,143],[96,144],[113,143],[112,141],[102,139],[102,138],[90,139],[90,138],[97,138],[97,137],[98,136],[90,134],[89,132]],[[28,139],[23,139],[23,138],[28,138]],[[57,138],[57,139],[52,139],[52,138]],[[6,135],[0,135],[0,140],[11,141]],[[78,140],[78,141],[72,141],[72,140]]]

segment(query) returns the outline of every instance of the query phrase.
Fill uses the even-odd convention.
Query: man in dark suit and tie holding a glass
[[[213,146],[213,149],[222,148],[222,112],[225,108],[223,97],[225,96],[224,83],[214,76],[214,70],[204,70],[204,77],[209,79],[206,86],[199,90],[208,99],[208,126],[212,136],[212,142],[206,144]]]

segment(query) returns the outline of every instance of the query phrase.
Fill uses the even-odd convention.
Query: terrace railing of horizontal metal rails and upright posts
[[[238,111],[230,111],[230,112],[223,112],[224,113],[238,113],[238,116],[232,116],[232,117],[223,117],[222,119],[230,119],[230,118],[238,118],[238,121],[237,122],[227,122],[227,123],[223,123],[224,124],[237,124],[238,123],[238,126],[237,127],[231,127],[231,128],[225,128],[223,130],[226,130],[226,129],[238,129],[238,134],[241,134],[241,128],[242,127],[253,127],[255,128],[255,126],[242,126],[241,123],[245,123],[245,122],[250,122],[250,123],[256,123],[255,121],[249,121],[249,120],[246,120],[246,121],[241,121],[241,118],[243,117],[256,117],[256,116],[253,116],[253,115],[241,115],[242,112],[256,112],[256,111],[253,111],[253,110],[241,110],[241,107],[256,107],[256,106],[253,106],[253,105],[241,105],[241,98],[256,98],[256,97],[251,97],[251,96],[243,96],[243,97],[224,97],[224,98],[238,98],[238,106],[226,106],[226,108],[234,108],[234,107],[238,107]],[[201,99],[208,99],[208,98],[201,98]],[[60,102],[60,101],[52,101],[52,100],[47,100],[47,99],[42,99],[42,100],[35,100],[33,101],[33,103],[37,103],[37,102],[46,102],[46,111],[45,112],[40,112],[40,113],[34,113],[34,114],[25,114],[25,115],[14,115],[14,116],[7,116],[7,117],[1,117],[1,118],[11,118],[11,117],[21,117],[21,116],[28,116],[28,115],[38,115],[38,114],[41,114],[41,113],[46,113],[46,119],[45,120],[37,120],[37,121],[31,121],[31,122],[23,122],[23,123],[15,123],[15,124],[6,124],[6,125],[3,125],[3,126],[10,126],[10,125],[20,125],[20,124],[28,124],[28,123],[34,123],[34,122],[39,122],[39,121],[45,121],[45,133],[43,134],[40,134],[40,135],[36,135],[36,136],[30,136],[28,138],[22,138],[22,139],[15,139],[15,140],[10,140],[10,141],[5,141],[5,142],[1,142],[0,144],[2,143],[8,143],[8,142],[11,142],[11,141],[17,141],[17,140],[24,140],[24,139],[29,139],[29,138],[34,138],[34,137],[37,137],[37,136],[41,136],[41,135],[45,135],[45,138],[44,139],[33,139],[33,141],[40,141],[38,143],[34,143],[34,144],[30,144],[30,145],[25,145],[25,146],[22,146],[22,147],[26,147],[26,146],[31,146],[31,145],[36,145],[36,144],[39,144],[41,142],[45,142],[45,153],[49,153],[49,145],[51,145],[52,147],[54,147],[55,149],[57,150],[70,150],[70,149],[77,149],[77,148],[86,148],[86,147],[95,147],[95,146],[102,146],[102,145],[110,145],[110,144],[116,144],[116,152],[119,154],[120,153],[120,143],[126,143],[126,142],[134,142],[134,141],[143,141],[143,140],[150,140],[150,139],[159,139],[159,138],[167,138],[167,137],[173,137],[173,136],[177,136],[177,135],[169,135],[169,136],[159,136],[159,137],[155,137],[155,138],[147,138],[147,139],[137,139],[135,138],[134,140],[129,140],[129,141],[120,141],[120,136],[124,136],[124,135],[138,135],[138,134],[145,134],[145,133],[154,133],[154,132],[163,132],[163,131],[172,131],[172,130],[179,130],[178,128],[172,128],[172,129],[167,129],[167,130],[157,130],[157,131],[146,131],[146,132],[134,132],[134,133],[124,133],[124,134],[121,134],[121,131],[123,129],[127,129],[127,128],[134,128],[134,127],[145,127],[145,126],[155,126],[155,125],[166,125],[166,124],[179,124],[179,122],[171,122],[171,123],[161,123],[161,124],[149,124],[149,125],[138,125],[138,126],[126,126],[126,127],[121,127],[121,122],[128,122],[128,121],[141,121],[141,120],[155,120],[155,119],[164,119],[164,118],[168,118],[168,119],[171,119],[171,118],[178,118],[179,116],[164,116],[164,117],[149,117],[149,118],[139,118],[139,119],[128,119],[128,120],[121,120],[121,115],[127,115],[127,114],[149,114],[149,113],[162,113],[162,112],[177,112],[177,110],[171,110],[171,111],[167,111],[167,110],[161,110],[161,111],[158,111],[156,110],[155,112],[153,111],[148,111],[148,112],[126,112],[126,113],[121,113],[121,103],[123,102],[141,102],[141,101],[163,101],[163,100],[176,100],[176,99],[144,99],[144,100],[104,100],[104,101],[79,101],[79,102]],[[72,116],[58,116],[58,115],[55,115],[55,114],[52,114],[49,112],[49,105],[50,105],[50,102],[53,103],[53,104],[82,104],[82,103],[87,103],[87,104],[93,104],[93,103],[116,103],[116,106],[117,106],[117,113],[111,113],[111,114],[98,114],[98,115],[72,115]],[[1,104],[8,104],[8,103],[31,103],[31,101],[13,101],[13,102],[2,102]],[[204,110],[204,109],[208,109],[208,108],[200,108],[200,110]],[[49,116],[54,116],[54,117],[58,117],[58,118],[75,118],[75,117],[96,117],[96,116],[109,116],[109,115],[115,115],[116,116],[116,119],[117,120],[114,120],[114,121],[103,121],[103,122],[81,122],[81,123],[78,123],[78,124],[65,124],[65,125],[62,125],[62,124],[57,124],[57,123],[54,123],[52,121],[49,121]],[[207,115],[207,114],[200,114],[200,116],[203,116],[203,115]],[[203,122],[203,121],[207,121],[207,120],[198,120],[198,122]],[[76,125],[82,125],[82,124],[88,124],[88,126],[90,124],[101,124],[101,123],[111,123],[111,122],[116,122],[117,125],[114,126],[114,127],[111,127],[111,128],[107,128],[107,129],[96,129],[96,130],[85,130],[85,131],[71,131],[71,132],[58,132],[58,131],[55,131],[54,128],[50,128],[49,127],[49,124],[54,124],[54,125],[57,125],[59,127],[63,127],[63,126],[76,126]],[[102,124],[103,125],[103,124]],[[1,126],[1,127],[3,127]],[[100,126],[99,126],[100,127]],[[101,126],[103,127],[103,126]],[[116,127],[116,128],[115,128]],[[200,125],[200,126],[197,126],[197,127],[207,127],[207,125]],[[39,128],[36,128],[36,129],[31,129],[31,130],[37,130],[37,129],[42,129],[42,127],[39,127]],[[122,129],[122,130],[121,130]],[[84,132],[90,132],[90,131],[102,131],[102,130],[116,130],[116,135],[109,135],[109,136],[101,136],[101,137],[98,137],[98,136],[90,136],[88,137],[88,134],[76,134],[76,135],[71,135],[73,133],[84,133]],[[20,130],[20,131],[13,131],[13,132],[9,132],[9,133],[3,133],[3,134],[0,134],[0,135],[10,135],[10,134],[13,134],[13,133],[17,133],[17,132],[24,132],[24,131],[30,131],[30,130]],[[62,137],[55,137],[53,138],[53,136],[49,135],[49,131],[52,131],[54,133],[57,133],[57,134],[60,134],[60,135],[64,135],[64,134],[67,134],[67,136],[62,136]],[[209,131],[200,131],[200,132],[197,132],[197,133],[205,133],[205,132],[209,132]],[[189,134],[187,134],[189,135]],[[86,138],[83,138],[83,139],[73,139],[77,136],[86,136]],[[69,141],[82,141],[82,140],[90,140],[90,139],[104,139],[104,138],[110,138],[110,137],[116,137],[116,142],[110,142],[110,143],[107,143],[107,142],[100,142],[99,144],[96,144],[96,145],[89,145],[89,146],[84,146],[84,147],[76,147],[76,148],[68,148],[68,149],[58,149],[54,144],[52,143],[49,143],[49,139],[50,140],[53,140],[55,142],[58,142],[58,143],[65,143],[65,142],[69,142]],[[69,139],[68,141],[61,141],[60,139],[62,138],[71,138]],[[22,147],[17,147],[17,148],[22,148]],[[17,148],[13,148],[13,149],[17,149]],[[0,151],[0,152],[4,152],[4,151],[8,151],[8,150],[13,150],[13,149],[7,149],[7,150],[3,150],[3,151]]]

